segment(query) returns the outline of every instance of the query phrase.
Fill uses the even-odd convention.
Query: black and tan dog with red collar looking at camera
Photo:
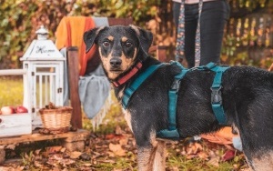
[[[84,35],[86,51],[98,45],[106,75],[121,100],[124,90],[148,66],[159,64],[147,54],[150,32],[130,26],[99,27]],[[165,170],[165,142],[157,132],[167,129],[167,92],[177,65],[162,65],[130,98],[125,117],[137,146],[139,170]],[[217,131],[210,86],[215,73],[193,70],[181,80],[177,92],[177,130],[181,138]],[[239,133],[248,165],[253,170],[273,170],[273,74],[250,66],[232,66],[222,77],[223,107],[227,125]]]

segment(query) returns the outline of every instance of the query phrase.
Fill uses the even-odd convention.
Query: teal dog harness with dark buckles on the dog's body
[[[149,66],[143,73],[138,75],[134,82],[129,85],[125,91],[124,96],[122,98],[122,106],[124,109],[127,108],[131,96],[134,95],[136,89],[145,82],[149,75],[152,75],[157,71],[157,69],[161,66],[165,65],[161,63],[159,65],[151,65]],[[227,70],[228,66],[218,66],[214,63],[209,63],[207,65],[197,66],[191,69],[187,69],[180,65],[178,62],[171,62],[170,65],[177,65],[181,68],[181,72],[175,75],[175,80],[168,91],[168,126],[167,129],[160,130],[157,132],[157,137],[161,138],[179,138],[179,133],[177,131],[177,92],[180,87],[181,79],[187,74],[187,72],[198,69],[198,70],[211,70],[216,73],[214,77],[213,84],[211,85],[211,106],[212,110],[217,118],[217,121],[221,125],[225,125],[227,123],[227,118],[225,116],[224,108],[222,106],[222,96],[221,96],[221,88],[222,88],[222,75]]]

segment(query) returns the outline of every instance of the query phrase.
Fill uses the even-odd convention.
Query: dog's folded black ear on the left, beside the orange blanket
[[[96,27],[91,30],[88,30],[84,34],[84,42],[86,44],[86,53],[89,52],[91,47],[96,44],[96,37],[104,27]]]

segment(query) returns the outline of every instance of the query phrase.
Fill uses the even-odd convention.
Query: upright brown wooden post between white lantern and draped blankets
[[[73,107],[71,116],[71,126],[82,128],[82,109],[78,95],[78,48],[71,46],[67,48],[67,68],[68,68],[68,84],[71,106]]]

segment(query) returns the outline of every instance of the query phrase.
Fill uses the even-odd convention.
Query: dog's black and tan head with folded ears
[[[144,60],[153,41],[151,32],[135,25],[104,26],[84,35],[86,53],[98,45],[99,55],[110,80],[128,71],[138,60]]]

